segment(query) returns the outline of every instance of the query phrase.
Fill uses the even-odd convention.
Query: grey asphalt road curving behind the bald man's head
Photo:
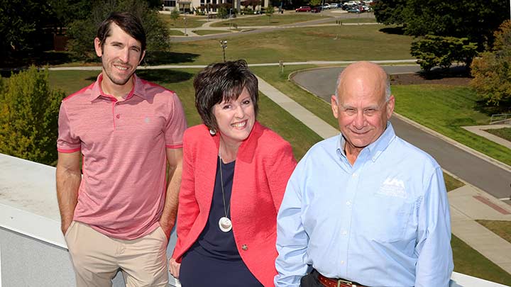
[[[412,66],[387,66],[385,70],[390,74],[417,72],[419,67]],[[295,74],[293,78],[328,103],[336,86],[336,77],[342,68],[314,69]],[[447,171],[455,174],[464,181],[477,186],[495,196],[496,198],[509,198],[511,196],[511,172],[495,164],[490,164],[484,159],[451,145],[439,137],[420,130],[399,118],[391,120],[396,134],[428,152]],[[506,201],[509,203],[509,201]]]

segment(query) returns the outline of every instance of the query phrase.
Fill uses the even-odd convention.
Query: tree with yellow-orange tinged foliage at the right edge
[[[489,105],[499,111],[511,111],[511,21],[494,33],[495,45],[472,63],[471,86]]]

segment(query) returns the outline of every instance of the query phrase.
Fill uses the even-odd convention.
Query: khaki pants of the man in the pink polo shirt
[[[167,237],[161,227],[136,240],[118,240],[73,221],[65,240],[77,287],[111,286],[119,269],[126,286],[167,286]]]

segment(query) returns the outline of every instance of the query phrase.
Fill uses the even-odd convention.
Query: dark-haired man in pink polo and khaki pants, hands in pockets
[[[145,55],[138,18],[112,13],[94,47],[102,72],[62,101],[57,140],[61,228],[77,286],[111,286],[119,269],[126,286],[166,286],[185,114],[174,92],[134,74]]]

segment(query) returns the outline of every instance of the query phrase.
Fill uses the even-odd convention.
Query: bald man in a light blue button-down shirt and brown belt
[[[331,106],[341,135],[314,145],[287,184],[275,286],[449,286],[442,171],[395,135],[394,102],[377,64],[339,75]]]

